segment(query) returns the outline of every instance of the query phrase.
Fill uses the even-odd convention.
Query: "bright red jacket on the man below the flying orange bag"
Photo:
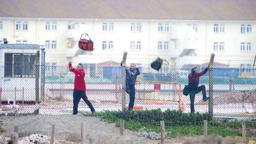
[[[69,64],[69,70],[75,74],[74,90],[86,90],[85,87],[85,70],[79,70]]]

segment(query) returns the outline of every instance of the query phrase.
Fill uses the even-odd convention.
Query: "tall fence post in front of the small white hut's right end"
[[[35,104],[39,104],[39,77],[40,77],[40,51],[36,51],[35,57]],[[39,114],[39,109],[35,110]]]

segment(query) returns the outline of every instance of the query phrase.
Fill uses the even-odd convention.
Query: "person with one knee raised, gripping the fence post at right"
[[[209,97],[207,97],[206,95],[206,91],[205,91],[205,85],[201,85],[200,87],[198,87],[198,83],[199,83],[199,78],[203,75],[206,74],[208,71],[208,67],[203,70],[203,72],[199,72],[198,68],[195,66],[192,70],[191,73],[189,74],[189,96],[190,96],[190,112],[194,113],[195,112],[195,107],[194,107],[194,103],[195,103],[195,94],[199,93],[200,91],[203,92],[203,101],[207,101],[209,100]]]

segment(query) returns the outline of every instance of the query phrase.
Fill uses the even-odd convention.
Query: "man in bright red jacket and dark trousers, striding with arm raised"
[[[85,103],[89,106],[92,113],[95,112],[92,103],[88,100],[87,95],[85,93],[85,70],[83,70],[83,65],[78,64],[77,68],[75,69],[72,67],[72,63],[69,62],[69,70],[74,72],[75,74],[75,82],[74,82],[74,92],[73,92],[73,114],[77,114],[78,104],[81,98]]]

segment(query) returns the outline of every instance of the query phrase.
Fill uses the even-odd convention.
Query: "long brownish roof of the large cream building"
[[[0,17],[256,20],[255,0],[0,0]]]

